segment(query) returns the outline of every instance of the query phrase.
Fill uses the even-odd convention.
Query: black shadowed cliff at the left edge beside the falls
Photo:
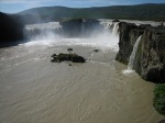
[[[20,16],[8,15],[0,12],[0,42],[14,42],[23,40],[23,23]]]

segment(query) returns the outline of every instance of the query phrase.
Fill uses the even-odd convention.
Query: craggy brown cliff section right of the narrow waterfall
[[[155,82],[165,82],[165,29],[146,27],[138,56],[140,60],[138,72],[142,78]]]

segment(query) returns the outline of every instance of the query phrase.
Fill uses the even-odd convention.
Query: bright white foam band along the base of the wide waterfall
[[[118,46],[119,37],[111,34],[97,35],[96,37],[90,38],[41,38],[32,40],[25,43],[25,46],[59,46],[59,45],[81,45],[81,46],[91,46],[100,48],[111,48],[116,52],[119,51]]]

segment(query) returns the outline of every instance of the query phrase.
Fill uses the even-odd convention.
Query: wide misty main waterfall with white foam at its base
[[[112,23],[111,23],[112,24]],[[118,24],[118,23],[117,23]],[[68,38],[65,37],[63,29],[58,22],[51,22],[45,24],[26,25],[25,35],[30,42],[25,45],[87,45],[98,47],[109,47],[118,52],[118,26],[113,27],[112,33],[109,25],[105,26],[105,30],[91,32],[87,37]],[[107,27],[107,29],[106,29]],[[40,33],[38,33],[40,31]],[[58,34],[59,32],[61,34]]]

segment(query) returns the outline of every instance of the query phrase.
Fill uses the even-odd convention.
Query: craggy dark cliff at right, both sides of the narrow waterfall
[[[133,69],[145,80],[165,82],[165,29],[121,22],[117,60],[128,64],[138,37],[142,35]]]

